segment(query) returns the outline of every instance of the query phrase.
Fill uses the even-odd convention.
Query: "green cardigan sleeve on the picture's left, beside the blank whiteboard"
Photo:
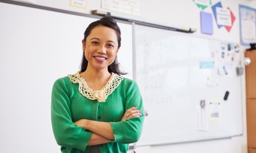
[[[92,137],[72,121],[70,98],[65,78],[55,81],[52,89],[51,119],[54,137],[60,146],[85,150]]]

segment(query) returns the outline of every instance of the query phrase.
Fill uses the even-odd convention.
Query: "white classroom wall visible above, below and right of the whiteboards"
[[[91,10],[101,9],[101,1],[87,1],[87,9],[74,8],[69,6],[69,1],[55,0],[45,1],[37,0],[36,4],[48,7],[54,7],[59,9],[65,9],[70,11],[76,11],[81,13],[89,13]],[[214,34],[203,35],[200,32],[200,9],[194,4],[192,0],[181,1],[168,1],[168,0],[141,0],[141,16],[134,17],[130,15],[124,15],[115,12],[116,15],[123,17],[130,17],[145,22],[155,22],[163,25],[175,25],[180,27],[196,28],[197,32],[194,35],[200,35],[206,38],[215,38],[230,42],[240,42],[240,30],[239,30],[239,4],[247,5],[256,9],[256,0],[228,0],[221,1],[224,8],[229,7],[236,20],[234,21],[231,31],[228,33],[223,27],[218,29],[216,21],[214,20]],[[220,1],[211,1],[212,4],[216,4]],[[205,12],[211,13],[211,8],[206,8]],[[242,46],[241,51],[245,48]],[[243,55],[243,53],[241,53]],[[161,146],[144,146],[136,148],[136,152],[225,152],[225,153],[245,153],[247,152],[247,131],[246,131],[246,97],[245,97],[245,77],[243,75],[243,128],[244,134],[229,139],[209,140],[191,143],[170,144]],[[171,130],[171,129],[170,129]]]

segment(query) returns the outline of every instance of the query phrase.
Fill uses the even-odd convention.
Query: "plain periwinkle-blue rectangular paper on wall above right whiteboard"
[[[212,15],[201,11],[201,33],[212,35],[214,33],[214,25]]]

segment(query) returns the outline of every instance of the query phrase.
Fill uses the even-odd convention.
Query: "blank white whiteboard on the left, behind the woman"
[[[0,3],[0,152],[60,152],[51,126],[52,86],[79,70],[83,32],[95,20]],[[132,25],[118,25],[118,60],[132,79]]]

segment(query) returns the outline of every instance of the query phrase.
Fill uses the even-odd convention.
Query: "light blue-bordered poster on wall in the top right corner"
[[[249,46],[256,43],[256,9],[239,5],[240,13],[240,41]]]

